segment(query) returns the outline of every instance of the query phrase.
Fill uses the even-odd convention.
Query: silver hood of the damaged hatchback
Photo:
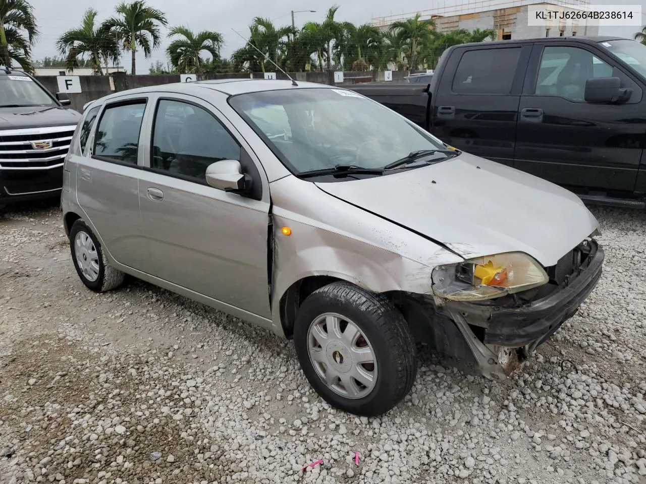
[[[549,267],[598,228],[572,192],[464,153],[388,176],[316,185],[466,259],[519,251]]]

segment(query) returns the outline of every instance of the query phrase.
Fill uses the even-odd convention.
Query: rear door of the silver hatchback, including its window
[[[118,263],[138,270],[150,264],[140,238],[138,180],[140,132],[146,106],[146,99],[127,97],[105,105],[96,133],[89,140],[87,132],[81,133],[83,145],[89,144],[85,156],[72,159],[78,163],[78,203],[85,218],[96,229],[103,248]],[[95,113],[89,113],[88,119],[91,116]]]

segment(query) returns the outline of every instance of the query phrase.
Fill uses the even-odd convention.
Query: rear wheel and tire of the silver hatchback
[[[117,288],[123,283],[125,274],[110,266],[94,232],[82,220],[74,222],[70,229],[70,251],[76,273],[85,287],[94,292],[105,292]],[[86,265],[86,270],[84,270],[84,266],[81,264],[91,259],[94,259],[94,268],[87,270],[88,266]]]

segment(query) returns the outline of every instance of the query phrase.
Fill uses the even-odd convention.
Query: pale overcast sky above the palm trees
[[[114,4],[120,0],[112,0]],[[148,0],[149,5],[165,12],[169,25],[188,26],[194,32],[200,30],[215,30],[224,37],[222,56],[229,57],[231,52],[244,45],[245,39],[237,35],[232,28],[245,38],[249,34],[249,24],[253,17],[271,19],[276,26],[291,23],[291,10],[315,10],[295,14],[296,26],[302,26],[307,21],[322,21],[331,5],[339,5],[336,18],[356,24],[370,23],[373,17],[407,14],[419,10],[443,8],[444,6],[460,5],[464,0],[273,0],[272,3],[263,0]],[[76,28],[81,23],[86,8],[93,7],[99,12],[101,21],[114,15],[112,2],[105,0],[30,0],[34,6],[37,23],[41,35],[34,47],[35,60],[57,55],[56,40],[66,30]],[[492,3],[496,3],[495,1]],[[590,0],[593,5],[641,5],[643,23],[646,24],[646,0]],[[61,6],[65,5],[65,8]],[[638,31],[634,26],[600,27],[601,35],[618,35],[632,38]],[[152,63],[167,62],[164,52],[169,41],[163,32],[162,48],[154,50],[152,57],[145,59],[143,53],[137,55],[138,73],[147,74]],[[121,57],[121,65],[130,68],[130,54]]]

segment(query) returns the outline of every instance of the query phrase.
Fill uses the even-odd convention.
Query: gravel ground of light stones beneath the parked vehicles
[[[375,419],[265,330],[141,281],[85,289],[51,205],[0,216],[0,483],[646,483],[646,213],[594,213],[605,273],[522,375],[423,356]]]

